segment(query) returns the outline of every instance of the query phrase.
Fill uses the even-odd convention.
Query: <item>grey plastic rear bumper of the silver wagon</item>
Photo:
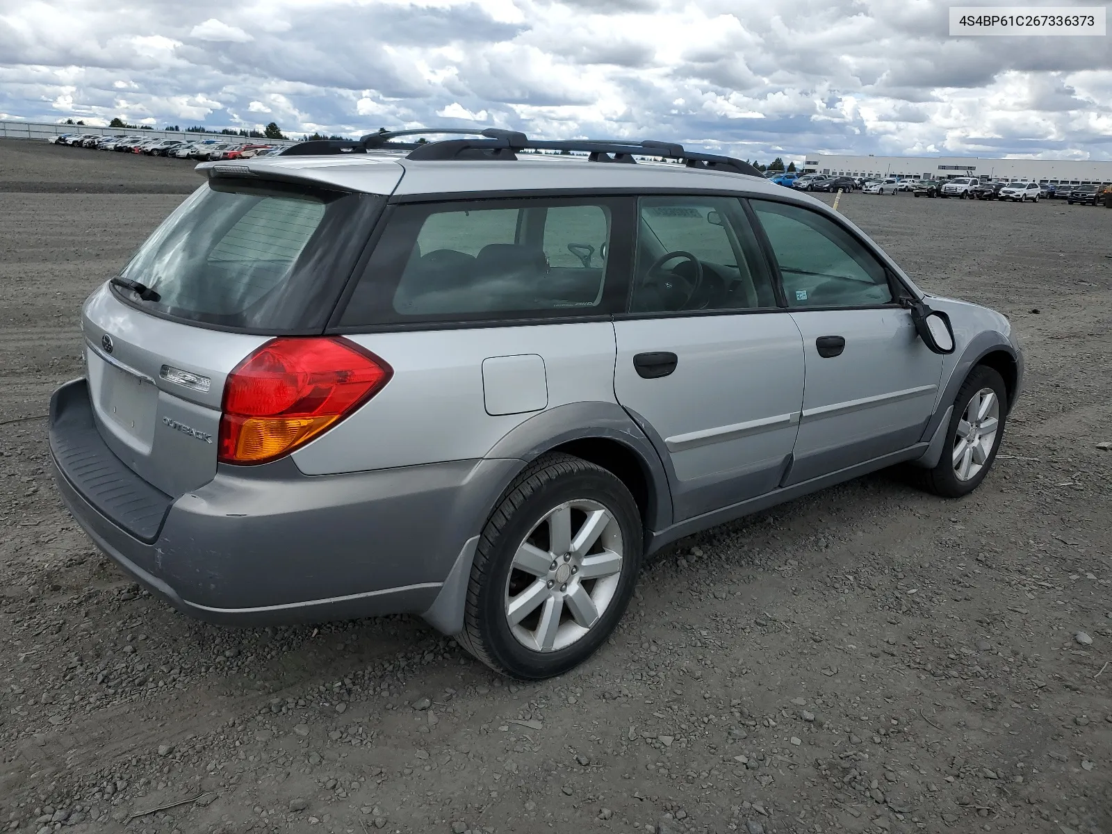
[[[106,488],[103,471],[90,476],[64,451],[75,443],[75,426],[82,425],[82,409],[91,420],[83,379],[51,398],[51,457],[66,506],[139,583],[179,610],[214,623],[426,612],[522,463],[461,460],[329,476],[302,475],[289,458],[221,466],[206,486],[163,496],[165,515],[153,535],[143,537],[120,504],[98,493]],[[111,465],[103,441],[102,449],[93,449],[96,438],[80,439],[89,454]],[[116,480],[109,492],[141,497],[145,486],[151,489],[120,467],[111,469]]]

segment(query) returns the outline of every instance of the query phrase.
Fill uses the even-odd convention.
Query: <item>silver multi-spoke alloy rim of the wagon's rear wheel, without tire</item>
[[[623,555],[622,527],[598,502],[552,509],[518,545],[506,578],[506,620],[517,642],[556,652],[584,637],[614,600]]]

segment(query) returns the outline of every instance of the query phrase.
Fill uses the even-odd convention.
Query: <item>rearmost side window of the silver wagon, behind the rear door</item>
[[[537,198],[396,206],[339,325],[612,312],[624,292],[610,269],[622,203]]]

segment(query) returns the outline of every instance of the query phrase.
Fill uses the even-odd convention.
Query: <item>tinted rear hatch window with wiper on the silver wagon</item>
[[[319,331],[385,198],[246,178],[210,179],[112,290],[155,315],[251,332]]]

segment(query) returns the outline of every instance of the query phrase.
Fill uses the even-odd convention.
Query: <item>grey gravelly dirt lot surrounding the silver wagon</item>
[[[844,197],[1022,335],[994,471],[685,539],[596,658],[522,686],[406,617],[195,623],[62,508],[40,416],[79,304],[193,178],[0,143],[0,828],[1112,832],[1112,211]]]

